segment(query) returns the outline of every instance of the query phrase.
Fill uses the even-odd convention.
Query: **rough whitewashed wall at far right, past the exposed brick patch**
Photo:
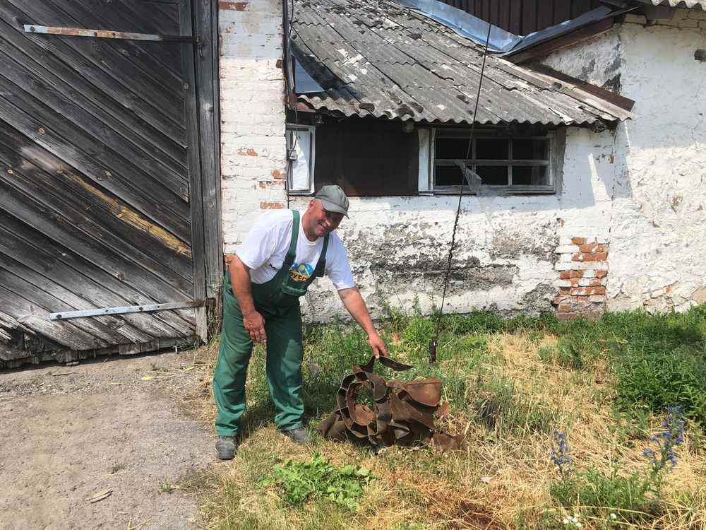
[[[618,127],[608,307],[686,310],[706,301],[706,13],[644,17],[543,62],[635,100]],[[570,180],[570,175],[565,179]]]

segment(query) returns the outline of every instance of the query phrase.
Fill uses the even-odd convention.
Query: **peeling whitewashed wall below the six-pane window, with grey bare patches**
[[[551,310],[560,241],[608,233],[615,159],[609,131],[569,128],[561,192],[464,198],[444,310]],[[306,208],[307,200],[292,208]],[[441,303],[457,203],[457,196],[351,199],[350,219],[337,232],[374,315],[385,304],[409,310],[416,299],[429,312]],[[303,307],[313,321],[346,317],[325,278],[312,285]]]

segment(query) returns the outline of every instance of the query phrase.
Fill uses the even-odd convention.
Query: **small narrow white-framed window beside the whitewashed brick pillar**
[[[290,194],[313,193],[316,129],[287,124],[287,189]]]

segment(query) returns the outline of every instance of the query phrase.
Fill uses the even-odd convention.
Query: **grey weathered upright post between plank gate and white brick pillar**
[[[185,64],[184,71],[189,85],[185,89],[196,95],[188,98],[191,108],[187,108],[193,298],[204,300],[217,296],[223,277],[217,0],[181,0],[179,13],[182,35],[189,28],[196,38],[191,47],[193,68]],[[196,334],[208,341],[205,307],[196,310]]]

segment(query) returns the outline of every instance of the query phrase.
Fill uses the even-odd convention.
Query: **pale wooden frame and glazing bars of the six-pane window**
[[[475,167],[478,165],[489,166],[489,165],[503,165],[508,166],[508,185],[496,186],[491,184],[482,184],[481,193],[483,191],[489,194],[556,194],[559,189],[560,182],[560,170],[561,163],[558,160],[558,153],[561,151],[563,156],[563,149],[558,143],[563,139],[563,131],[560,130],[549,130],[543,135],[541,134],[511,134],[506,130],[493,130],[493,129],[476,129],[474,132],[473,146],[471,152],[471,158],[469,159],[456,159],[456,158],[441,158],[436,159],[436,140],[441,137],[445,138],[462,138],[468,140],[470,129],[442,129],[433,128],[431,129],[431,139],[429,141],[429,187],[427,190],[421,190],[420,192],[433,193],[435,195],[457,195],[460,193],[460,186],[437,186],[435,181],[435,167],[437,165],[455,165],[457,161],[464,161],[472,167],[475,171]],[[478,139],[505,139],[508,141],[508,158],[507,159],[483,159],[476,158],[477,140]],[[513,160],[513,139],[517,140],[548,140],[548,153],[546,160]],[[439,164],[439,162],[445,162],[445,164]],[[542,163],[538,163],[542,162]],[[549,184],[542,185],[522,185],[513,186],[512,185],[512,168],[513,165],[537,165],[542,167],[547,167],[549,172]],[[475,194],[471,192],[467,184],[462,186],[464,194]]]

